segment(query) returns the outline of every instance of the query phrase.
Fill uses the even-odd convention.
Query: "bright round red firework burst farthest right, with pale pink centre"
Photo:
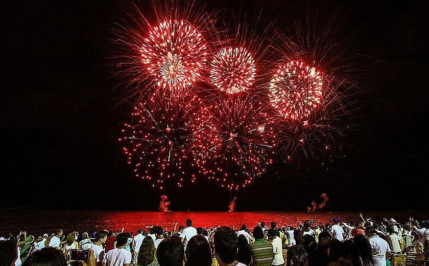
[[[323,79],[316,68],[300,61],[280,64],[270,81],[270,100],[280,115],[303,121],[321,103]]]

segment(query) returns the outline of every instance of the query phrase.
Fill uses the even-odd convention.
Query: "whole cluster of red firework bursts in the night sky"
[[[300,168],[342,150],[359,93],[347,40],[329,25],[274,38],[234,19],[217,30],[186,3],[153,4],[154,19],[134,6],[131,26],[115,29],[117,74],[139,94],[122,139],[136,176],[159,188],[206,176],[232,190],[274,159]]]

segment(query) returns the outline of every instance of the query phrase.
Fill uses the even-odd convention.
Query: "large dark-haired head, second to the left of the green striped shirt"
[[[214,251],[224,263],[232,263],[237,255],[237,234],[229,227],[220,227],[214,232]]]

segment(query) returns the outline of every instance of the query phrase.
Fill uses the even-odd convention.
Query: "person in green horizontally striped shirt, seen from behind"
[[[271,242],[264,237],[264,232],[261,227],[253,228],[253,237],[255,242],[250,244],[250,252],[252,253],[254,266],[272,265],[274,249]]]

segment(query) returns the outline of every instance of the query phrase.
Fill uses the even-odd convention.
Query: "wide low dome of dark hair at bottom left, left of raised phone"
[[[63,253],[55,248],[43,248],[31,254],[22,266],[65,266]]]

